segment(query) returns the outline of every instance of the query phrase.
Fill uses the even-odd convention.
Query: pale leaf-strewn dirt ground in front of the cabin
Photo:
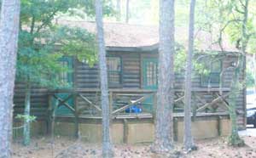
[[[256,158],[256,137],[242,136],[246,146],[232,148],[227,146],[226,138],[195,141],[198,150],[184,154],[182,144],[176,144],[170,155],[154,155],[150,144],[114,145],[117,158]],[[97,158],[101,157],[101,144],[86,144],[68,138],[33,138],[32,144],[24,147],[19,142],[13,144],[13,158]]]

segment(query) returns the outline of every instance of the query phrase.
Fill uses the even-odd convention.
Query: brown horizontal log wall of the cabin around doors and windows
[[[143,88],[142,84],[142,59],[149,57],[156,57],[155,54],[151,53],[136,53],[136,52],[110,52],[108,55],[119,56],[122,60],[122,85],[119,88]],[[223,59],[222,68],[227,69],[230,67],[231,62],[236,61],[234,56],[226,56]],[[79,62],[74,59],[74,74],[73,81],[75,88],[95,88],[99,87],[99,71],[98,66],[94,65],[90,67],[87,64]],[[244,76],[243,75],[241,77]],[[233,77],[232,69],[227,69],[223,76],[224,87],[230,87]],[[181,74],[176,74],[175,76],[175,87],[178,89],[183,89],[184,76]],[[201,77],[195,75],[193,78],[194,88],[206,88],[201,87]],[[114,87],[113,87],[114,88]],[[32,115],[38,116],[39,119],[47,119],[47,109],[48,109],[48,91],[43,87],[33,86],[32,87]],[[90,99],[99,99],[99,94],[96,93],[83,93],[84,96]],[[212,96],[210,92],[201,92],[201,97],[207,102],[210,102],[215,96]],[[216,98],[216,97],[215,97]],[[24,99],[25,99],[25,84],[17,82],[15,84],[15,115],[23,113],[24,111]],[[237,110],[239,111],[238,123],[240,127],[245,127],[246,116],[245,116],[245,93],[241,91],[241,95],[237,98]],[[84,102],[81,99],[77,99],[77,104],[81,105]],[[197,103],[195,103],[197,104]]]

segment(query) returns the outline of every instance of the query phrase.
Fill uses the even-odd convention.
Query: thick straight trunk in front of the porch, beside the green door
[[[165,153],[172,150],[174,45],[174,0],[160,0],[159,78],[155,138],[152,148],[156,153]]]

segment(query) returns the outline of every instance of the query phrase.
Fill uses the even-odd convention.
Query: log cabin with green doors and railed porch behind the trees
[[[60,25],[76,26],[96,33],[94,22],[61,20]],[[112,113],[112,134],[115,143],[151,142],[154,138],[154,109],[158,67],[158,27],[105,23],[108,87]],[[187,45],[188,32],[177,28],[177,42]],[[195,138],[211,138],[230,133],[228,115],[229,92],[237,49],[224,41],[223,48],[212,41],[209,33],[196,31],[199,61],[207,63],[207,75],[193,76],[193,124]],[[73,71],[61,74],[63,82],[72,87],[49,90],[32,87],[31,115],[34,135],[53,132],[59,135],[79,135],[88,142],[101,140],[101,104],[98,65],[90,67],[74,57],[60,60]],[[241,74],[244,78],[245,71]],[[183,71],[175,73],[175,105],[173,132],[175,140],[183,137]],[[22,114],[25,99],[24,84],[15,84],[14,115]],[[245,90],[237,98],[237,123],[246,127]],[[15,121],[15,126],[20,124]],[[14,130],[20,136],[19,130]]]

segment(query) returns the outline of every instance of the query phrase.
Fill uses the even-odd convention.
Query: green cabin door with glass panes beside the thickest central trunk
[[[143,88],[156,90],[158,87],[158,59],[143,59]],[[145,99],[143,102],[144,109],[153,110],[153,96]]]

